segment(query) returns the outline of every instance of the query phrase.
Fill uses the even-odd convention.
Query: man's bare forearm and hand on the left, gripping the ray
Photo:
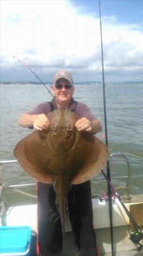
[[[19,118],[18,123],[25,128],[33,126],[38,131],[47,130],[50,127],[50,122],[45,114],[32,115],[24,113]]]

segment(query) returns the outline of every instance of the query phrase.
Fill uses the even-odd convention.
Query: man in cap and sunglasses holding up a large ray
[[[100,122],[88,106],[73,100],[74,86],[69,72],[59,71],[55,74],[51,91],[54,94],[53,100],[39,104],[31,112],[21,115],[20,126],[33,127],[37,131],[47,130],[50,127],[47,114],[64,106],[79,115],[80,119],[75,124],[78,131],[98,133],[102,130]],[[53,185],[37,182],[39,256],[60,255],[62,250],[62,229],[55,197]],[[90,181],[72,185],[68,193],[68,210],[78,255],[98,255],[93,228]]]

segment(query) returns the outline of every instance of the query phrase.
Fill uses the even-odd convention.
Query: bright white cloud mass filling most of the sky
[[[96,16],[79,13],[70,1],[62,0],[3,0],[1,7],[1,67],[14,71],[20,66],[12,58],[17,56],[37,68],[43,77],[61,67],[72,71],[77,80],[101,77]],[[118,16],[103,16],[102,34],[107,79],[115,79],[113,73],[120,73],[125,79],[129,72],[138,72],[143,78],[142,24],[118,24]]]

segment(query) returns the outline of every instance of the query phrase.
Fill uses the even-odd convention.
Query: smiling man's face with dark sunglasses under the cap
[[[57,88],[56,87],[61,88]],[[71,97],[74,92],[74,86],[72,85],[70,89],[66,89],[66,85],[71,85],[71,83],[66,79],[58,79],[55,85],[51,86],[51,91],[55,96],[55,100],[57,100],[58,104],[62,104],[66,102],[67,104],[70,103]]]

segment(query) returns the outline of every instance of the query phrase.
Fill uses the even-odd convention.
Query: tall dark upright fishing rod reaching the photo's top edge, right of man
[[[103,105],[104,105],[104,118],[105,118],[105,142],[106,142],[106,146],[108,147],[106,97],[105,97],[105,77],[104,77],[104,61],[103,61],[103,43],[102,43],[101,3],[100,3],[100,0],[99,0],[99,20],[100,20],[100,35],[101,35]],[[111,181],[109,160],[107,161],[107,178]],[[111,234],[111,251],[112,251],[112,256],[114,256],[114,236],[113,236],[113,225],[112,225],[112,196],[111,196],[111,187],[108,183],[107,183],[107,187],[108,187],[108,195],[109,195],[109,218],[110,218],[110,234]]]

